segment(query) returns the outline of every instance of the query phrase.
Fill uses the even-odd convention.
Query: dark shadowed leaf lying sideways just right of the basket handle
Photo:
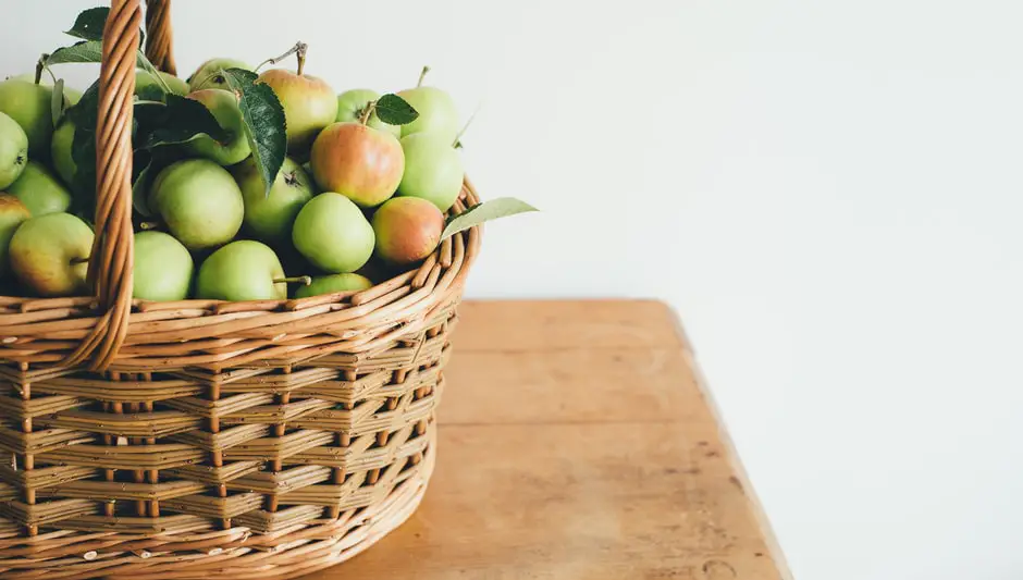
[[[165,103],[136,102],[135,120],[138,122],[135,147],[140,149],[188,143],[199,135],[209,135],[219,141],[229,138],[206,106],[174,94],[167,95]]]

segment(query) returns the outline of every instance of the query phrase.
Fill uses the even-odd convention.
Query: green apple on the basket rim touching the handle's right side
[[[135,234],[132,296],[141,300],[184,300],[195,264],[181,242],[163,232]]]

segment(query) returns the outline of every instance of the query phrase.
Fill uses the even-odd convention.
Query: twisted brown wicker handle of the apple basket
[[[146,51],[158,67],[174,70],[171,54],[170,0],[147,0]],[[124,343],[132,312],[132,120],[135,52],[139,45],[139,0],[111,0],[103,29],[96,125],[96,238],[89,259],[89,284],[103,314],[65,363],[91,359],[101,371]]]

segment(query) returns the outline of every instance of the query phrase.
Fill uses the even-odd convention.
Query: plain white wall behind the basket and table
[[[4,2],[0,73],[96,3]],[[1023,577],[1019,2],[174,8],[183,74],[304,39],[337,90],[482,102],[471,176],[544,212],[469,294],[669,301],[797,578]]]

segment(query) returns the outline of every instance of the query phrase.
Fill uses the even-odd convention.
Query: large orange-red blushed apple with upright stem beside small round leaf
[[[394,195],[405,172],[402,144],[359,123],[334,123],[312,146],[312,176],[324,192],[373,208]]]

